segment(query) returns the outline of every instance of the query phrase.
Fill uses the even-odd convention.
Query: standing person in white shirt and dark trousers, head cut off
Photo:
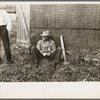
[[[0,38],[3,42],[7,64],[11,64],[14,62],[11,59],[11,51],[10,51],[10,43],[8,35],[8,31],[11,31],[11,20],[6,10],[2,10],[1,7],[2,6],[0,6]],[[1,55],[0,55],[0,64],[2,64]]]

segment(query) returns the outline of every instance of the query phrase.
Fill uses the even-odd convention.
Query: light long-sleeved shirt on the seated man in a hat
[[[49,41],[40,40],[40,41],[38,41],[36,47],[41,53],[42,52],[53,53],[56,50],[56,45],[53,40],[49,40]]]

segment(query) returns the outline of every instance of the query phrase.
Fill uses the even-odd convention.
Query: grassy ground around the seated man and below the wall
[[[61,61],[57,66],[41,61],[38,68],[30,63],[28,50],[16,43],[16,21],[10,32],[10,44],[14,64],[6,64],[5,55],[0,65],[1,82],[65,82],[100,81],[100,49],[67,50],[67,65]]]

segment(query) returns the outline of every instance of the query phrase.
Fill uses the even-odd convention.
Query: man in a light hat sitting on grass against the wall
[[[38,63],[43,58],[48,58],[54,63],[58,63],[61,56],[61,48],[56,48],[55,42],[50,39],[49,31],[43,31],[42,40],[39,40],[37,46],[31,47],[31,61]]]

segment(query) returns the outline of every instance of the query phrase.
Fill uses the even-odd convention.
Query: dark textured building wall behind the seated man
[[[87,48],[100,44],[100,5],[62,4],[31,5],[31,43],[36,45],[43,30],[60,46],[64,36],[66,47]]]

